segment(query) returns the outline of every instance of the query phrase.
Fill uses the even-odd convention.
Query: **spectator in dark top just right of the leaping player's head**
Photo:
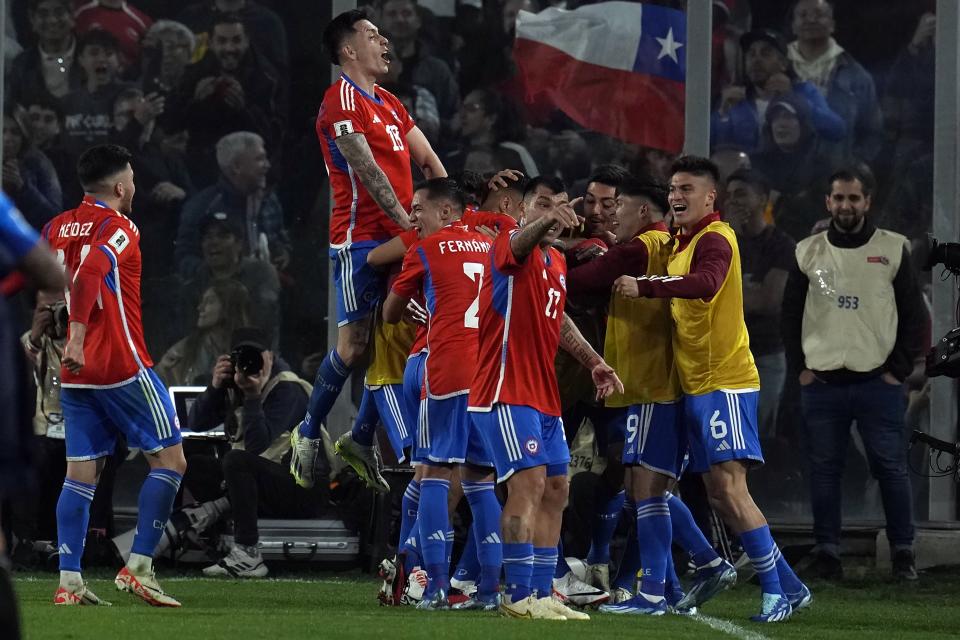
[[[457,111],[460,91],[450,67],[433,54],[429,43],[421,37],[416,0],[383,0],[378,24],[390,39],[391,53],[403,63],[398,80],[430,91],[437,99],[440,119],[449,122]]]

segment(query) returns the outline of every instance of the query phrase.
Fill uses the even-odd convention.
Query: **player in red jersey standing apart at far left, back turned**
[[[130,152],[116,145],[80,156],[83,202],[43,229],[67,271],[70,314],[60,402],[66,424],[67,475],[57,503],[60,588],[54,604],[105,604],[80,577],[80,558],[104,459],[122,433],[143,451],[150,473],[140,489],[137,534],[116,584],[154,606],[179,607],[153,573],[187,462],[180,425],[153,372],[140,316],[140,231],[127,217],[133,202]]]

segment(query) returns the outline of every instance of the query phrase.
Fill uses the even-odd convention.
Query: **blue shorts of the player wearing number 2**
[[[492,467],[490,455],[467,414],[468,394],[420,401],[414,462],[469,462]]]

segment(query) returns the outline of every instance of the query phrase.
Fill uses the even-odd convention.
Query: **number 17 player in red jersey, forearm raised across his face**
[[[557,347],[590,369],[598,397],[623,392],[616,373],[563,312],[566,264],[551,243],[580,224],[576,202],[563,191],[555,178],[532,180],[524,226],[493,242],[480,291],[480,351],[469,399],[497,478],[509,486],[501,520],[507,581],[501,610],[558,620],[586,616],[550,597],[570,461],[554,369]]]

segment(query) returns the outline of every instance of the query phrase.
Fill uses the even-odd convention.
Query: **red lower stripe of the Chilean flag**
[[[520,38],[513,57],[525,103],[548,102],[584,127],[626,142],[682,150],[683,83],[582,62]]]

